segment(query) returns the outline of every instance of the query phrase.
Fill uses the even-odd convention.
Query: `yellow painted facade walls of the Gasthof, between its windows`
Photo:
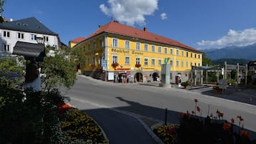
[[[113,47],[113,38],[118,39],[118,47]],[[103,47],[100,47],[100,39],[103,39]],[[125,49],[125,40],[130,41],[130,49]],[[173,65],[171,66],[171,71],[186,71],[191,69],[192,66],[202,66],[202,53],[193,52],[189,49],[184,49],[180,47],[168,46],[166,44],[157,44],[155,42],[145,42],[145,41],[136,41],[136,39],[131,39],[130,37],[120,37],[117,35],[108,35],[107,42],[108,45],[105,46],[105,36],[88,39],[87,41],[79,44],[77,48],[82,49],[81,51],[85,53],[85,67],[82,70],[88,71],[93,69],[101,69],[101,65],[98,63],[100,57],[105,57],[104,55],[104,47],[107,48],[108,51],[108,71],[114,71],[114,67],[112,67],[113,55],[118,56],[118,64],[119,66],[116,69],[138,69],[135,67],[136,57],[140,57],[141,59],[141,67],[143,67],[143,71],[153,71],[154,69],[161,70],[161,66],[158,66],[158,59],[161,59],[161,64],[164,64],[164,58],[168,58],[173,60]],[[96,42],[95,49],[93,48],[93,42]],[[140,51],[136,50],[136,42],[140,42]],[[88,49],[88,44],[90,43],[90,50]],[[144,51],[144,44],[148,44],[148,52]],[[151,46],[155,45],[155,52],[152,52]],[[85,49],[83,48],[85,47]],[[161,47],[161,53],[158,53],[158,47]],[[167,54],[165,54],[164,48],[167,48]],[[173,49],[173,54],[170,54],[170,49]],[[176,49],[179,49],[179,55],[176,54]],[[183,56],[182,56],[183,52]],[[186,52],[188,52],[188,57],[186,57]],[[192,57],[191,57],[192,54]],[[196,54],[196,58],[195,58]],[[125,64],[125,55],[130,56],[130,64]],[[90,57],[90,62],[87,62],[87,58]],[[95,57],[96,62],[93,62],[93,57]],[[144,65],[144,58],[148,57],[148,66]],[[151,65],[151,59],[155,58],[155,65]],[[179,67],[176,67],[176,61],[179,61]],[[182,67],[182,63],[184,65]],[[186,66],[186,62],[188,65]],[[92,64],[95,64],[95,67],[92,67]],[[120,67],[120,64],[123,67]],[[170,64],[170,62],[168,63]]]

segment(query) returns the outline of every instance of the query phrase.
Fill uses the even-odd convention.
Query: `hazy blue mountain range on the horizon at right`
[[[244,47],[230,46],[221,49],[202,49],[207,58],[256,60],[256,43]]]

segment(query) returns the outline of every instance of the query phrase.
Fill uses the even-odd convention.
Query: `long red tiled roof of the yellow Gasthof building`
[[[183,47],[185,49],[200,52],[199,50],[196,50],[193,47],[189,47],[185,44],[182,44],[181,42],[177,42],[173,39],[169,39],[167,37],[162,37],[157,34],[148,32],[146,28],[144,30],[136,29],[134,27],[127,26],[125,24],[120,24],[118,21],[110,21],[108,24],[105,24],[104,26],[99,27],[99,29],[93,32],[93,34],[91,34],[86,39],[90,39],[103,32],[120,34],[126,37],[133,37],[135,39],[144,39],[151,42],[158,42],[161,44],[168,44],[176,47]]]

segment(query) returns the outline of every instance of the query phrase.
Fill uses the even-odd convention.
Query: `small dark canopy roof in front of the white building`
[[[24,57],[38,57],[44,50],[44,44],[34,44],[29,42],[16,42],[12,54],[22,55]]]

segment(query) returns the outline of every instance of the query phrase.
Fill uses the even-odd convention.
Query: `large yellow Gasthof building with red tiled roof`
[[[80,49],[85,62],[82,74],[118,82],[149,82],[161,80],[161,64],[171,64],[170,82],[178,75],[189,80],[191,66],[202,66],[202,52],[173,39],[136,29],[118,21],[93,32],[74,47]]]

